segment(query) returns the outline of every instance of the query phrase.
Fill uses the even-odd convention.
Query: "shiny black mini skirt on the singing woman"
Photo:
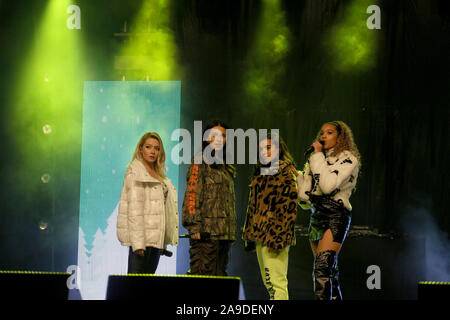
[[[333,241],[342,243],[350,229],[351,211],[344,207],[342,201],[327,196],[309,195],[314,211],[309,220],[309,239],[322,239],[327,229],[333,235]]]

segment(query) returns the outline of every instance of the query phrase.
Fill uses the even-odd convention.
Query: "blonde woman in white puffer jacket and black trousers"
[[[125,173],[117,236],[130,247],[128,273],[155,273],[167,245],[178,245],[177,192],[166,176],[156,132],[144,134]]]

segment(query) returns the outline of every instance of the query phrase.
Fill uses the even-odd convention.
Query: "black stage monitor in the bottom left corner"
[[[70,273],[0,271],[0,286],[8,300],[67,300]]]

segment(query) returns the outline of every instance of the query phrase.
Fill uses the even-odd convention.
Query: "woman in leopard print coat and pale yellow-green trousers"
[[[256,248],[264,285],[272,300],[288,300],[289,247],[295,245],[297,182],[294,161],[278,135],[259,144],[260,160],[250,185],[243,239]]]

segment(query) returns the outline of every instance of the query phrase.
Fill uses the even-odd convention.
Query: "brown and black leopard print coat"
[[[253,177],[242,238],[282,250],[295,245],[296,218],[296,175],[280,160],[277,174]]]

